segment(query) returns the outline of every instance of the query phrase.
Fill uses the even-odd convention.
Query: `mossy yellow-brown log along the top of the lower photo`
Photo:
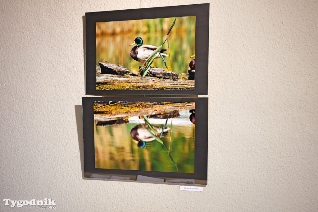
[[[177,117],[178,111],[193,110],[194,107],[194,102],[94,102],[94,121],[105,122],[133,116],[152,118],[152,115],[158,115],[156,118],[167,118],[168,114],[175,114]]]

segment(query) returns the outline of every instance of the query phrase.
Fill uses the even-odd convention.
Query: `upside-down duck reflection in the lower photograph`
[[[147,126],[147,124],[143,124],[149,131],[150,128]],[[162,127],[160,126],[155,126],[152,125],[152,127],[154,128],[154,130],[156,131],[157,135],[159,136],[161,134],[162,131]],[[166,134],[168,134],[168,131],[170,130],[169,127],[165,127],[163,130],[163,133],[161,135],[160,138],[162,138],[163,136],[165,136]],[[137,146],[139,148],[143,148],[146,146],[146,142],[148,141],[153,141],[155,140],[154,137],[151,136],[151,134],[149,133],[149,131],[147,131],[141,124],[135,126],[133,129],[131,129],[130,131],[130,136],[131,138],[133,138],[133,141],[135,143],[137,143]],[[151,131],[152,132],[152,131]]]

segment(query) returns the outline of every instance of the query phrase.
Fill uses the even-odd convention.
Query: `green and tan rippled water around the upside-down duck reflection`
[[[194,173],[194,126],[189,120],[189,110],[182,114],[184,115],[173,118],[173,123],[176,124],[172,126],[170,156],[179,172]],[[182,124],[178,125],[178,119],[182,119]],[[152,122],[152,119],[149,121]],[[169,123],[171,121],[167,125],[170,128]],[[167,149],[156,140],[146,142],[143,148],[137,146],[130,136],[131,130],[137,125],[139,123],[111,126],[94,124],[95,168],[177,172]],[[162,127],[163,124],[153,125]],[[170,133],[171,129],[161,138],[167,147]]]

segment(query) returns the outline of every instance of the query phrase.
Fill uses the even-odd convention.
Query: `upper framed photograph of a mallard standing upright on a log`
[[[209,4],[89,12],[85,41],[86,94],[208,94]]]

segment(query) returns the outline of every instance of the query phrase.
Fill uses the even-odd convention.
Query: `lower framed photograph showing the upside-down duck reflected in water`
[[[208,98],[83,97],[82,110],[85,178],[207,185]]]

